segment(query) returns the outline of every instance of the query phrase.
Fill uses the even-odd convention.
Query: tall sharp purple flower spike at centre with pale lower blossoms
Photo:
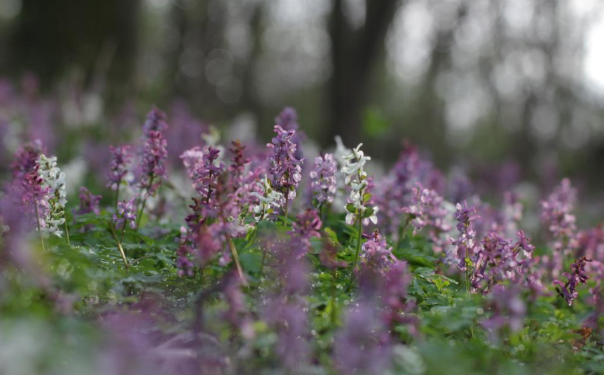
[[[302,164],[304,160],[295,157],[296,145],[292,142],[295,130],[283,130],[275,125],[277,136],[266,147],[272,148],[268,157],[269,173],[272,188],[286,195],[288,199],[296,197],[296,188],[302,179]]]

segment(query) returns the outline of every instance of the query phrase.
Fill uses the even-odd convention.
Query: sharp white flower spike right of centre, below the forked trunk
[[[352,153],[344,156],[344,166],[341,169],[345,175],[344,182],[350,187],[349,203],[345,206],[347,224],[352,224],[358,218],[362,218],[364,224],[368,224],[368,221],[377,224],[377,207],[365,206],[371,200],[371,194],[365,194],[368,182],[364,166],[371,158],[361,151],[362,145],[359,143]]]

